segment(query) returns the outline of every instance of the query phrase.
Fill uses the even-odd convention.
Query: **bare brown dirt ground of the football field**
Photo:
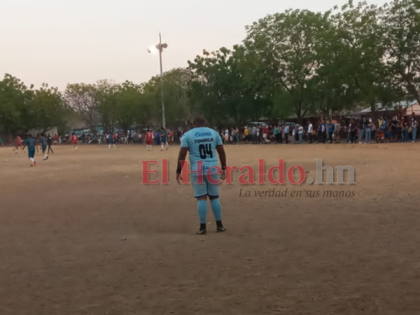
[[[55,146],[35,168],[11,151],[0,148],[1,315],[420,314],[418,144],[227,146],[229,165],[284,158],[314,176],[323,158],[352,165],[357,184],[225,185],[228,232],[209,207],[206,236],[192,188],[175,183],[175,146]],[[141,160],[161,158],[171,184],[141,185]],[[272,188],[288,197],[253,193]]]

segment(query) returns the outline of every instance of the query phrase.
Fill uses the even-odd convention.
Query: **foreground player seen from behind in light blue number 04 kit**
[[[218,157],[221,160],[222,174],[213,174],[213,179],[225,180],[226,178],[226,154],[223,148],[221,137],[216,130],[205,126],[203,116],[197,116],[194,120],[195,128],[183,134],[181,149],[178,157],[178,167],[176,168],[176,180],[180,183],[182,163],[186,160],[187,153],[190,153],[191,171],[196,171],[198,165],[202,165],[202,181],[197,182],[197,173],[191,173],[191,183],[193,184],[194,197],[197,199],[197,211],[200,218],[200,230],[198,235],[207,234],[207,196],[210,199],[211,209],[216,220],[216,231],[224,232],[226,229],[222,224],[222,207],[219,201],[220,184],[212,184],[207,179],[207,170],[216,172],[214,166],[218,166]],[[198,163],[202,162],[202,163]],[[200,179],[199,179],[200,180]]]

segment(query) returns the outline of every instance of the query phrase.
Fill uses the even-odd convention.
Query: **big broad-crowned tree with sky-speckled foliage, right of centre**
[[[244,45],[258,56],[258,70],[270,78],[274,113],[298,118],[312,111],[311,80],[318,70],[318,50],[328,14],[286,10],[247,27]]]

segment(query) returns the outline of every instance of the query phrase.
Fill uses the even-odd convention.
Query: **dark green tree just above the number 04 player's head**
[[[189,63],[194,73],[192,95],[195,111],[204,113],[215,125],[242,125],[265,114],[258,77],[253,73],[253,59],[243,45],[233,50],[204,50]]]

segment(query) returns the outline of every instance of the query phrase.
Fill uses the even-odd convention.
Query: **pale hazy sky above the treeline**
[[[356,2],[356,1],[355,1]],[[385,0],[369,3],[382,5]],[[346,0],[0,0],[0,76],[27,85],[141,83],[159,73],[158,55],[169,45],[164,71],[186,66],[203,48],[231,48],[245,25],[287,8],[324,11]]]

